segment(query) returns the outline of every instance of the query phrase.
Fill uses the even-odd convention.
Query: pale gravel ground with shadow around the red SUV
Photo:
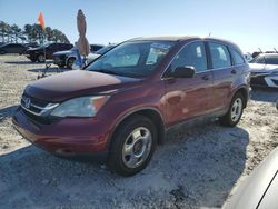
[[[24,57],[0,56],[0,208],[221,208],[278,145],[278,92],[260,90],[250,92],[237,127],[216,121],[168,136],[135,177],[60,159],[11,126],[23,88],[41,68]]]

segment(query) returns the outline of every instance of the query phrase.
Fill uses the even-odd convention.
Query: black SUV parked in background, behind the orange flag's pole
[[[73,46],[70,43],[47,43],[38,48],[31,48],[26,51],[26,57],[32,62],[43,62],[44,59],[53,59],[52,54],[57,51],[69,50]],[[44,58],[46,50],[46,58]]]

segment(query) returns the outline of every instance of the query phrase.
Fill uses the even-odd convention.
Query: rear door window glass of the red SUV
[[[209,42],[212,68],[227,68],[231,66],[230,54],[226,46]]]

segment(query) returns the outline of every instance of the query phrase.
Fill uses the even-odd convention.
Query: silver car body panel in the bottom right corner
[[[278,148],[238,187],[224,209],[278,208]]]

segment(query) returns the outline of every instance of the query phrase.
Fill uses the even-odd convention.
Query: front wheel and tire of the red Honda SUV
[[[157,146],[157,130],[150,119],[138,115],[125,120],[111,140],[108,168],[120,176],[133,176],[149,163]]]

